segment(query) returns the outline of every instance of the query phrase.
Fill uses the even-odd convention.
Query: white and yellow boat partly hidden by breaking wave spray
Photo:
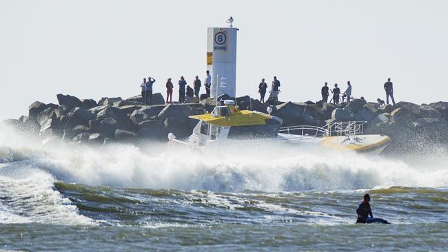
[[[282,118],[262,112],[239,110],[233,100],[225,100],[211,113],[190,116],[199,120],[188,141],[168,134],[170,143],[192,147],[223,144],[235,140],[275,140],[300,145],[379,154],[389,144],[389,136],[363,134],[365,121],[328,123],[325,127],[296,125],[281,127]]]

